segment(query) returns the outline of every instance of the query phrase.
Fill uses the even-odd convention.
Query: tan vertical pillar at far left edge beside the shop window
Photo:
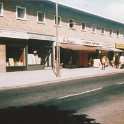
[[[0,72],[6,72],[6,45],[0,44]]]

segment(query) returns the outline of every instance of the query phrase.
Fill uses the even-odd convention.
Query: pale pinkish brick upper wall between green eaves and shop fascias
[[[20,5],[19,3],[17,4]],[[23,5],[24,6],[24,5]],[[0,17],[0,28],[9,28],[12,30],[22,30],[27,32],[41,33],[45,35],[54,35],[56,32],[56,26],[54,24],[54,14],[52,18],[45,19],[44,23],[37,22],[37,10],[27,8],[27,18],[25,20],[16,19],[16,4],[10,4],[5,2],[4,14]],[[32,11],[32,12],[29,12]],[[100,44],[106,44],[107,46],[114,46],[115,42],[121,42],[123,38],[117,38],[116,36],[110,37],[108,33],[101,34],[100,30],[92,31],[91,28],[87,28],[85,31],[81,30],[81,25],[74,25],[74,29],[69,28],[69,24],[61,22],[59,26],[59,41],[62,42],[64,39],[76,39],[77,43],[83,43],[85,41],[98,42]]]

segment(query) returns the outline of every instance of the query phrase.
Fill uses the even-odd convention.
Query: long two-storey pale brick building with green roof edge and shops
[[[0,0],[0,71],[52,66],[56,36],[55,3]],[[124,25],[59,5],[60,61],[86,67],[89,58],[124,49]]]

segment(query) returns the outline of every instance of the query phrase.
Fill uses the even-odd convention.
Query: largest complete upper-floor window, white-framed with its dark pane
[[[17,19],[25,19],[26,18],[26,8],[16,6],[16,18]]]

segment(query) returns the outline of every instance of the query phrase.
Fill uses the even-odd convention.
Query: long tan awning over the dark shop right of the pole
[[[64,49],[77,50],[77,51],[89,51],[89,52],[96,51],[96,47],[84,46],[80,44],[61,43],[60,47]]]

